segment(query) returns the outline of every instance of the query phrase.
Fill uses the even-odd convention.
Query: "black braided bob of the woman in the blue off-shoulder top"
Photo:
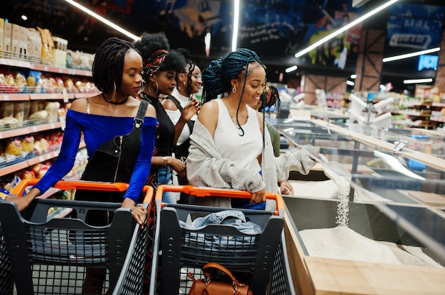
[[[128,50],[135,50],[133,43],[117,37],[108,38],[97,48],[92,62],[92,82],[99,91],[107,93],[121,88],[124,59]],[[140,53],[139,53],[140,54]]]

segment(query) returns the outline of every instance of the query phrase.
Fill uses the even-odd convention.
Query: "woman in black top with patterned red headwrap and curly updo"
[[[178,123],[173,124],[168,117],[161,99],[170,95],[176,87],[176,73],[186,67],[185,57],[176,50],[170,50],[168,39],[164,33],[144,33],[141,40],[134,43],[134,47],[141,52],[144,61],[143,78],[144,90],[139,98],[149,101],[156,109],[159,121],[159,133],[156,138],[156,155],[151,158],[151,171],[156,174],[156,184],[173,184],[172,170],[178,177],[186,177],[186,164],[172,156],[173,147],[178,137],[176,130],[181,133],[183,126],[190,118],[198,113],[198,101],[192,100],[183,108]],[[176,194],[164,192],[162,201],[176,203]]]

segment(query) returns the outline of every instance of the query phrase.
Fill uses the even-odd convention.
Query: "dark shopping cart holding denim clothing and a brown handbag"
[[[276,202],[276,211],[236,209],[261,227],[259,233],[248,234],[224,224],[185,226],[184,223],[190,224],[194,218],[227,208],[163,204],[163,191],[198,197],[251,197],[247,191],[233,189],[159,186],[150,294],[188,294],[193,280],[187,274],[191,272],[196,279],[203,278],[201,267],[208,262],[217,262],[247,279],[244,283],[250,285],[254,294],[266,294],[266,290],[268,294],[295,294],[284,243],[284,201],[279,194],[267,194],[268,199]]]

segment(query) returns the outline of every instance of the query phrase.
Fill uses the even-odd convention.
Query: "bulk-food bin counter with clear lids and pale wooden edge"
[[[445,160],[440,151],[419,152],[412,145],[427,139],[443,149],[444,138],[412,137],[423,135],[417,130],[374,138],[318,120],[270,123],[289,141],[282,152],[313,145],[348,172],[332,173],[314,155],[319,162],[308,175],[289,177],[296,195],[284,196],[286,238],[299,293],[443,292]]]

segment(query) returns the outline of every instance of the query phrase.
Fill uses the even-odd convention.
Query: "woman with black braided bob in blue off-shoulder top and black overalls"
[[[143,225],[147,212],[137,204],[149,177],[158,122],[154,107],[136,99],[143,81],[141,72],[142,57],[132,43],[119,38],[105,40],[92,64],[92,80],[101,94],[73,101],[57,160],[28,194],[8,201],[14,201],[21,211],[70,172],[83,134],[88,163],[81,179],[125,182],[129,187],[124,193],[77,190],[75,199],[122,202],[121,207],[131,208],[133,218]],[[111,221],[108,211],[86,217],[94,226]],[[102,294],[106,270],[87,267],[82,294]]]

